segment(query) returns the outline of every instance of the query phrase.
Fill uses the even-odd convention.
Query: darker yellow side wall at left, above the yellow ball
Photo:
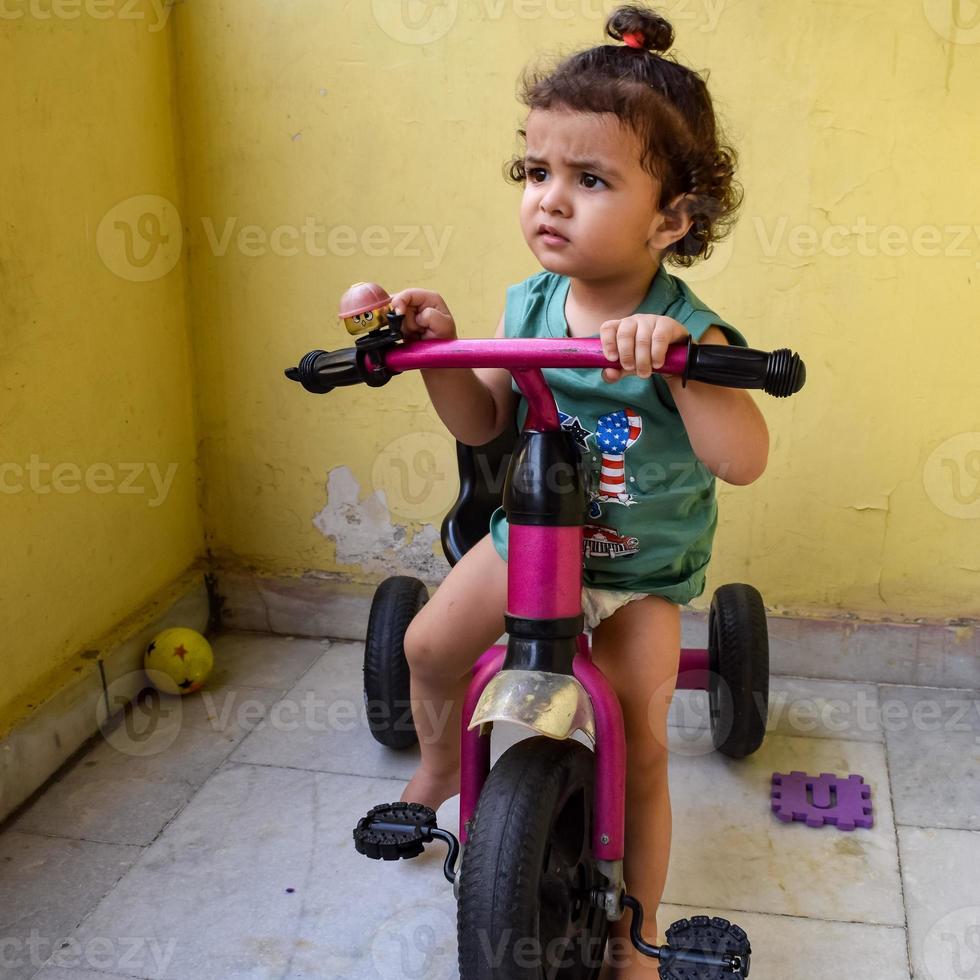
[[[0,731],[203,550],[180,225],[113,210],[179,200],[173,38],[117,8],[0,19]]]

